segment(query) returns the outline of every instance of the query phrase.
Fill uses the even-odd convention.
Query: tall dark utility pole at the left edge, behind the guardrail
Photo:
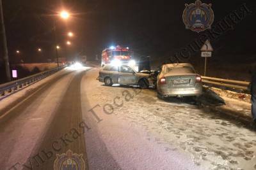
[[[7,80],[11,81],[12,79],[11,79],[10,64],[9,64],[9,57],[8,57],[7,40],[6,40],[5,27],[4,27],[4,14],[3,14],[2,0],[0,0],[0,15],[1,15],[1,29],[3,34],[5,72],[6,72]]]

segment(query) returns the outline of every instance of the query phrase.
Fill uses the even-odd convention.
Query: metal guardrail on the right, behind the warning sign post
[[[202,82],[211,85],[218,85],[221,87],[228,87],[231,89],[250,90],[248,88],[250,86],[250,82],[248,81],[227,80],[223,78],[202,76]]]

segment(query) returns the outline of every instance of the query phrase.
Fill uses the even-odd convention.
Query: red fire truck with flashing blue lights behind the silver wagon
[[[132,59],[132,52],[128,47],[111,46],[102,51],[101,66],[105,64],[111,64],[118,60],[121,63],[129,63]]]

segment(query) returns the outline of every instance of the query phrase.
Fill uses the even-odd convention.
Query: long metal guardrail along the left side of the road
[[[64,67],[65,66],[55,67],[55,68],[50,69],[48,71],[33,74],[31,76],[21,78],[19,80],[10,81],[8,83],[1,84],[0,85],[0,95],[4,96],[4,95],[6,95],[6,92],[11,93],[14,90],[17,90],[19,88],[30,85],[31,83],[35,83],[36,81],[42,80],[45,77],[50,76],[51,74],[56,73],[57,71],[63,69]]]

